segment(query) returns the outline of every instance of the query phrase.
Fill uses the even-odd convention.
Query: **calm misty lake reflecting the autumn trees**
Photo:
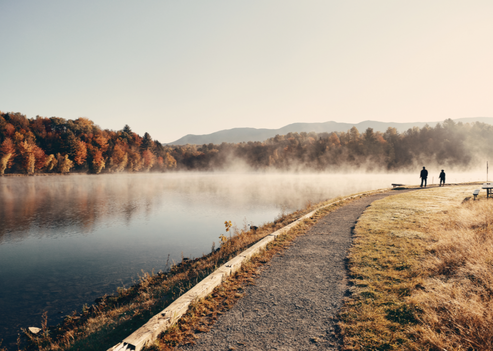
[[[6,345],[21,327],[39,327],[44,311],[56,324],[142,270],[165,270],[168,258],[209,253],[225,220],[259,225],[308,201],[419,180],[419,172],[0,178],[0,339]]]

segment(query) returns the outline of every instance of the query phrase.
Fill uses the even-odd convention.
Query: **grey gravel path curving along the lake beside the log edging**
[[[346,257],[356,220],[373,201],[355,200],[320,219],[274,257],[233,308],[183,350],[337,350],[337,312],[347,292]]]

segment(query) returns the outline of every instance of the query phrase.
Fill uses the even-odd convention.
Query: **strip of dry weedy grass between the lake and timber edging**
[[[96,305],[85,306],[81,312],[74,311],[63,323],[54,327],[44,323],[43,330],[38,335],[26,331],[29,344],[23,349],[107,349],[142,326],[150,317],[166,308],[219,266],[269,233],[338,199],[308,203],[302,210],[282,213],[274,222],[264,224],[255,231],[248,230],[246,224],[243,229],[233,228],[236,235],[224,240],[218,249],[213,245],[209,255],[183,261],[166,273],[154,275],[143,272],[138,284],[128,289],[121,288],[116,296],[106,296]],[[330,206],[323,213],[341,204]]]

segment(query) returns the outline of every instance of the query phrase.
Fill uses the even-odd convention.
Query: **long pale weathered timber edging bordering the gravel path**
[[[319,207],[289,223],[288,225],[282,227],[281,229],[278,229],[273,233],[267,235],[266,237],[264,237],[264,239],[261,239],[255,245],[252,245],[250,248],[243,251],[238,256],[232,258],[224,265],[216,269],[214,272],[212,272],[210,275],[205,277],[192,289],[173,301],[168,307],[150,318],[147,323],[145,323],[140,328],[135,330],[132,334],[123,339],[122,342],[109,348],[108,351],[140,351],[142,347],[147,345],[149,342],[154,341],[161,332],[173,326],[173,324],[175,324],[181,318],[181,316],[183,316],[187,312],[192,302],[211,294],[214,288],[222,283],[223,278],[234,274],[237,270],[240,269],[243,262],[248,261],[253,255],[261,252],[263,249],[265,249],[267,244],[276,240],[277,236],[291,229],[300,221],[311,217],[313,214],[315,214],[316,211],[324,207],[334,205],[338,202],[355,198],[357,196],[368,195],[376,192],[385,192],[388,190],[390,190],[390,188],[384,190],[368,191],[331,202],[330,204]]]

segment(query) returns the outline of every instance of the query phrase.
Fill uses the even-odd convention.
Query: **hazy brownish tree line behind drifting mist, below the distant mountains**
[[[360,133],[353,127],[347,132],[288,133],[264,142],[173,146],[172,155],[178,168],[186,170],[224,169],[238,162],[252,170],[407,171],[417,165],[466,170],[492,155],[492,137],[491,125],[448,119],[403,133],[395,128]]]

